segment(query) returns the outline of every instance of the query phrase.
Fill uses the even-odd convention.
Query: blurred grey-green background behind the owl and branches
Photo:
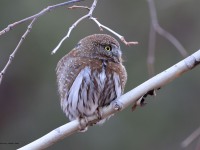
[[[1,0],[0,29],[17,20],[33,15],[61,0]],[[200,1],[156,0],[161,26],[172,33],[191,54],[200,48]],[[81,4],[91,4],[86,0]],[[85,10],[59,8],[40,17],[19,49],[0,85],[0,149],[16,149],[54,128],[68,122],[62,113],[56,87],[55,67],[83,37],[100,33],[92,21],[81,22],[55,55],[52,49],[67,33],[68,28]],[[102,0],[94,17],[139,45],[127,47],[120,42],[128,72],[125,92],[147,80],[147,48],[149,10],[145,0]],[[0,69],[25,32],[28,23],[0,37]],[[102,32],[108,33],[109,32]],[[114,36],[115,37],[115,36]],[[156,73],[182,56],[163,37],[157,36]],[[200,67],[184,74],[148,98],[148,105],[133,113],[130,107],[112,117],[103,126],[94,126],[56,143],[54,149],[181,149],[180,143],[200,126]],[[186,150],[194,149],[197,140]]]

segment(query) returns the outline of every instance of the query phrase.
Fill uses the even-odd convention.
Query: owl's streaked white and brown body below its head
[[[115,65],[82,58],[58,68],[61,106],[70,120],[80,115],[92,115],[98,107],[121,96],[124,79]]]

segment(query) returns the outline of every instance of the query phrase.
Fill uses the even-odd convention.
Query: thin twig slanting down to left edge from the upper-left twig
[[[26,32],[23,34],[23,36],[21,37],[17,47],[15,48],[15,50],[12,52],[12,54],[10,55],[7,64],[5,65],[5,67],[3,68],[3,70],[0,73],[0,84],[2,82],[3,79],[3,75],[5,74],[6,70],[8,69],[9,65],[12,63],[12,60],[15,57],[16,52],[18,51],[19,47],[21,46],[21,44],[23,43],[23,41],[25,40],[26,36],[28,35],[28,33],[31,31],[33,23],[37,20],[37,18],[33,19],[31,21],[31,23],[28,25],[28,28],[26,30]]]

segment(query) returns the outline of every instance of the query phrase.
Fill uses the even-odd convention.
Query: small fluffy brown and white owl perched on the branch
[[[127,73],[121,56],[116,39],[94,34],[80,40],[58,62],[60,103],[69,120],[94,115],[122,95]]]

